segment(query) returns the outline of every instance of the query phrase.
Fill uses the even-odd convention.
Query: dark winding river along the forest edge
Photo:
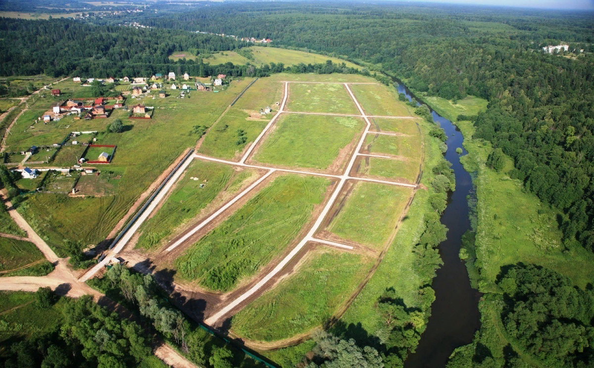
[[[406,94],[409,101],[415,99],[403,84],[399,83],[397,88],[399,93]],[[448,228],[448,233],[447,240],[438,246],[444,264],[437,270],[432,282],[435,302],[431,306],[431,317],[416,352],[405,361],[405,368],[445,367],[452,351],[472,342],[473,335],[481,326],[478,310],[481,294],[470,287],[466,266],[458,256],[462,234],[470,229],[466,196],[473,189],[470,174],[460,163],[461,155],[456,153],[456,148],[462,148],[462,154],[466,154],[462,147],[464,138],[450,120],[433,110],[431,114],[448,137],[445,159],[452,164],[456,191],[448,196],[447,208],[441,216],[441,223]]]

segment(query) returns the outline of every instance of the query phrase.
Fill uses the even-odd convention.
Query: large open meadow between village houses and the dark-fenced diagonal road
[[[126,129],[122,133],[104,132],[105,127],[120,116],[118,113],[126,116],[125,112],[114,113],[107,119],[72,120],[74,125],[69,128],[52,125],[51,129],[59,131],[58,137],[65,137],[67,132],[73,130],[98,130],[100,134],[97,135],[97,144],[118,145],[112,163],[101,167],[102,170],[121,173],[117,185],[118,195],[72,198],[66,195],[38,193],[29,195],[18,211],[59,256],[65,256],[62,249],[64,239],[81,240],[84,245],[102,242],[138,196],[186,148],[195,145],[198,137],[192,134],[193,127],[211,125],[249,81],[233,81],[229,88],[219,93],[193,93],[190,99],[167,97],[153,100],[150,96],[135,99],[134,103],[154,106],[154,118],[125,120]],[[56,88],[61,88],[68,94],[73,93],[71,90],[75,92],[86,87],[77,86],[71,80],[67,80],[56,85]],[[41,106],[48,109],[52,103],[50,97],[36,99],[33,107]],[[59,123],[64,120],[66,118]],[[49,125],[44,127],[48,128]],[[48,134],[52,134],[51,129]],[[19,130],[17,123],[13,134]],[[39,137],[42,138],[43,135]]]

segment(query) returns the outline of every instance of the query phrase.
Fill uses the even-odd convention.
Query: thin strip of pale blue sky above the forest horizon
[[[409,0],[447,4],[500,5],[503,7],[594,10],[594,0]]]

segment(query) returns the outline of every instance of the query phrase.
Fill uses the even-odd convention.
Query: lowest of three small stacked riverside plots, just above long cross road
[[[360,156],[355,163],[355,172],[362,176],[372,176],[386,179],[405,180],[410,183],[416,181],[419,175],[421,157],[418,158],[380,158]]]

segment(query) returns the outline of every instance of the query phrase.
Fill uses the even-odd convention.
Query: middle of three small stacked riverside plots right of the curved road
[[[369,133],[361,150],[372,154],[416,158],[421,155],[421,137],[418,134],[405,137]]]

